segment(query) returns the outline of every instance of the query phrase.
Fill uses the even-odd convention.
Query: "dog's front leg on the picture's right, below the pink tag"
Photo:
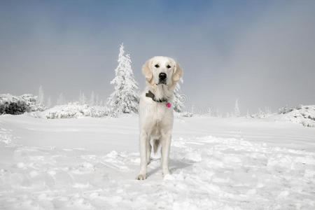
[[[162,158],[162,172],[163,176],[169,174],[169,148],[171,147],[172,134],[167,132],[162,134],[161,138],[162,148],[161,148],[161,158]]]

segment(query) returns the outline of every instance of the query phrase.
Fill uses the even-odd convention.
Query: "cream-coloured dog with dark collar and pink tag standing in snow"
[[[169,174],[169,149],[174,121],[172,99],[176,83],[183,76],[181,66],[171,57],[156,56],[142,66],[146,88],[139,102],[140,172],[138,180],[146,179],[153,151],[161,147],[163,177]]]

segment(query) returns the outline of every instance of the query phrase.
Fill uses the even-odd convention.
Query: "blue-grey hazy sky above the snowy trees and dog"
[[[141,66],[173,57],[188,109],[315,104],[315,1],[0,1],[0,94],[102,99],[120,43]]]

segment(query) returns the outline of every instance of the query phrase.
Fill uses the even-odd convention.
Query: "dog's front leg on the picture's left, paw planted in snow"
[[[141,131],[140,132],[140,173],[137,176],[138,180],[144,180],[146,179],[146,167],[148,165],[147,162],[147,141],[149,141],[149,136],[146,132]],[[150,143],[150,141],[149,141]]]

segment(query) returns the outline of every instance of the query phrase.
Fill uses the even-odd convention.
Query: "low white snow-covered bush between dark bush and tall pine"
[[[104,106],[88,106],[78,103],[69,103],[66,105],[54,106],[47,109],[41,114],[42,117],[48,119],[55,118],[80,118],[83,116],[90,116],[99,118],[103,116],[113,116]]]

